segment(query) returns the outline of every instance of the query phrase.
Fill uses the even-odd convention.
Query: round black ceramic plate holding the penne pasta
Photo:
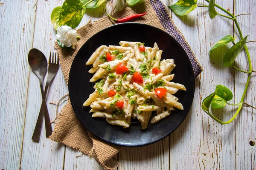
[[[157,42],[163,50],[162,59],[174,59],[176,67],[173,82],[185,85],[186,91],[178,91],[175,96],[179,98],[184,110],[172,111],[165,119],[156,124],[148,123],[145,130],[140,123],[131,122],[131,126],[123,129],[108,124],[103,118],[92,118],[90,107],[83,107],[84,101],[93,93],[94,83],[89,80],[93,74],[88,73],[91,65],[85,65],[91,54],[100,45],[119,45],[120,41],[145,42],[145,46],[153,47]],[[80,48],[70,69],[69,95],[72,107],[82,125],[93,135],[105,142],[126,147],[137,147],[157,142],[171,134],[185,119],[192,105],[195,91],[195,79],[189,58],[180,44],[166,32],[153,26],[140,23],[116,24],[99,31],[93,35]]]

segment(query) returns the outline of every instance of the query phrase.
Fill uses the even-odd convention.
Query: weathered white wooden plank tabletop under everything
[[[94,159],[85,155],[76,157],[80,154],[78,151],[46,139],[44,130],[39,143],[31,140],[41,106],[41,93],[38,78],[29,68],[27,54],[31,48],[40,49],[47,57],[50,51],[55,51],[56,36],[50,14],[63,2],[0,0],[0,169],[103,169]],[[108,1],[107,10],[111,11],[115,3]],[[116,10],[124,7],[123,1],[118,3]],[[172,0],[164,0],[163,3],[167,6],[172,4]],[[203,0],[198,0],[198,3],[204,4]],[[251,13],[237,18],[244,36],[250,34],[247,40],[256,40],[255,0],[216,0],[216,3],[236,15]],[[207,55],[212,45],[222,37],[228,34],[238,37],[233,31],[236,30],[233,22],[220,16],[211,20],[207,8],[196,8],[184,17],[169,12],[204,68],[195,79],[194,102],[185,121],[169,137],[146,147],[124,148],[116,155],[118,169],[256,170],[256,145],[249,144],[250,141],[256,142],[256,110],[242,108],[236,120],[228,125],[218,124],[201,110],[202,99],[218,84],[233,91],[233,102],[238,103],[241,98],[247,74],[225,68],[221,65],[221,57],[209,59]],[[104,6],[87,10],[79,27],[89,20],[98,20],[105,16],[103,14]],[[255,70],[256,42],[247,43],[247,46]],[[226,51],[226,48],[221,48],[218,53],[224,55]],[[236,61],[239,68],[248,68],[244,53],[239,54]],[[252,74],[245,102],[254,106],[255,90],[256,75]],[[52,120],[55,118],[55,105],[49,102],[58,101],[67,93],[63,74],[58,71],[47,99]],[[215,115],[228,120],[234,113],[235,107],[228,107],[215,112]]]

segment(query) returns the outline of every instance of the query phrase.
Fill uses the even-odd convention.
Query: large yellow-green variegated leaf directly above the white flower
[[[84,17],[85,7],[80,0],[65,0],[60,13],[59,25],[76,28]]]

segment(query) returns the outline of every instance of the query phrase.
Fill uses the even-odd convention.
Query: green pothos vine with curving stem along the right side
[[[218,41],[209,51],[209,55],[210,52],[215,49],[215,48],[219,48],[223,45],[226,45],[229,42],[233,43],[233,46],[227,51],[227,53],[224,56],[223,59],[223,65],[225,67],[232,67],[237,71],[243,72],[244,74],[247,74],[247,81],[244,87],[244,92],[241,96],[240,102],[239,103],[235,103],[235,104],[231,104],[228,103],[228,101],[230,101],[233,98],[233,94],[232,92],[225,87],[224,85],[217,85],[215,88],[215,92],[210,94],[209,96],[207,96],[201,105],[201,108],[203,109],[203,111],[205,111],[212,119],[214,119],[215,121],[221,123],[221,124],[228,124],[230,122],[232,122],[236,116],[239,114],[239,112],[241,111],[241,108],[243,106],[250,106],[254,109],[256,109],[255,107],[247,104],[244,102],[244,97],[245,94],[247,92],[247,88],[249,85],[249,81],[250,81],[250,77],[251,74],[255,71],[253,71],[252,69],[252,62],[251,62],[251,58],[250,58],[250,53],[248,51],[248,48],[246,46],[247,43],[247,37],[244,37],[242,32],[241,32],[241,28],[236,20],[236,17],[242,15],[237,15],[235,16],[234,14],[231,14],[229,11],[227,11],[226,9],[222,8],[221,6],[215,4],[215,0],[205,0],[209,3],[208,6],[201,6],[201,5],[197,5],[197,0],[179,0],[177,3],[173,4],[172,6],[168,6],[170,9],[172,9],[172,11],[177,14],[177,15],[186,15],[189,12],[193,11],[196,7],[206,7],[209,9],[209,16],[211,19],[213,19],[215,16],[220,15],[222,17],[228,18],[230,20],[233,20],[233,22],[236,25],[236,28],[239,32],[239,37],[240,37],[240,41],[239,42],[234,42],[235,38],[232,35],[227,35],[224,38],[222,38],[220,41]],[[227,15],[224,14],[219,14],[216,10],[215,7],[220,9],[221,11],[224,11]],[[252,42],[252,41],[249,41]],[[236,68],[236,66],[234,65],[235,59],[238,56],[238,54],[244,49],[246,56],[247,56],[247,62],[249,65],[249,70],[244,71],[241,70],[239,68]],[[222,122],[221,120],[219,120],[218,118],[216,118],[215,116],[212,115],[212,113],[209,111],[210,107],[211,108],[223,108],[226,105],[235,105],[238,106],[236,113],[234,114],[234,116],[227,122]]]

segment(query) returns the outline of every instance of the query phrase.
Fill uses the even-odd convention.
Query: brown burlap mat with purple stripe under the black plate
[[[122,11],[118,11],[113,14],[115,18],[122,18],[137,13],[147,14],[142,17],[133,20],[133,22],[145,23],[151,26],[160,28],[167,33],[171,34],[184,48],[189,56],[192,63],[195,77],[201,73],[202,69],[194,53],[190,49],[183,35],[174,25],[172,19],[169,16],[169,12],[160,0],[145,0],[134,7],[126,7]],[[73,62],[76,53],[79,51],[81,46],[94,34],[101,31],[102,29],[111,26],[113,23],[108,17],[97,20],[93,23],[88,23],[86,26],[79,28],[77,30],[78,35],[81,37],[75,44],[75,50],[70,53],[56,44],[56,49],[59,54],[60,64],[64,78],[68,83],[70,67]],[[56,142],[62,142],[67,146],[73,147],[76,150],[92,156],[94,159],[105,166],[105,162],[112,158],[116,153],[119,152],[121,147],[113,146],[111,144],[106,144],[105,142],[99,141],[93,137],[86,129],[81,125],[73,111],[70,100],[61,110],[60,116],[56,120],[56,125],[54,127],[52,136],[50,139]]]

